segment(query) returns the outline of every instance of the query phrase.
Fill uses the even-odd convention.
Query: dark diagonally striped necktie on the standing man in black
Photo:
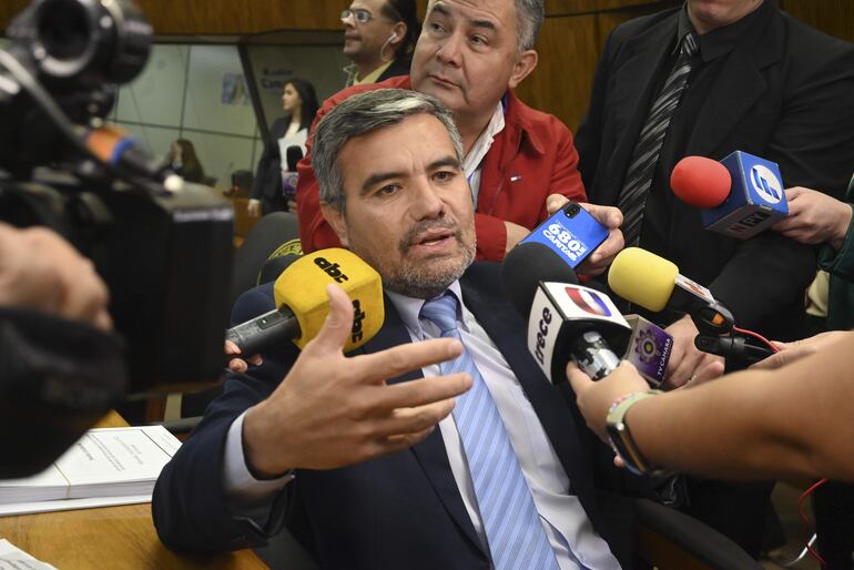
[[[685,85],[688,85],[688,78],[691,74],[691,59],[697,50],[697,39],[693,33],[687,33],[682,38],[682,47],[679,50],[677,62],[650,108],[647,121],[638,136],[629,169],[626,171],[617,207],[622,212],[621,230],[627,247],[638,245],[640,242],[643,211],[647,207],[647,196],[652,185],[652,177],[655,175],[655,166],[659,163],[661,147],[664,145],[664,136],[668,134],[670,120],[679,106]]]

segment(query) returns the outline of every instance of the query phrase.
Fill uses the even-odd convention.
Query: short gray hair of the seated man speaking
[[[430,114],[441,121],[457,160],[462,162],[462,139],[450,111],[438,99],[404,89],[367,91],[338,103],[317,123],[312,169],[321,186],[321,202],[344,212],[344,175],[338,166],[338,154],[347,141],[417,114]]]

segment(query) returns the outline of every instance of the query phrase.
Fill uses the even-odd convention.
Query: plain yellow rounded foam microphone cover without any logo
[[[659,312],[668,304],[678,276],[674,263],[640,247],[627,247],[611,264],[608,286],[622,298]]]

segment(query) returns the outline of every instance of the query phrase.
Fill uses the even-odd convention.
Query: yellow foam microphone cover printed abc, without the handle
[[[383,326],[385,305],[379,274],[350,251],[319,250],[291,264],[273,285],[276,306],[287,305],[299,323],[302,334],[294,339],[299,348],[317,336],[329,314],[329,283],[340,286],[353,302],[353,329],[344,352],[367,343]]]

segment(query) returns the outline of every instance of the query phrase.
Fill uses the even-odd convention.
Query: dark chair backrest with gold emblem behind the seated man
[[[232,304],[243,292],[257,285],[258,274],[267,259],[302,253],[296,214],[272,212],[262,217],[234,254]]]

